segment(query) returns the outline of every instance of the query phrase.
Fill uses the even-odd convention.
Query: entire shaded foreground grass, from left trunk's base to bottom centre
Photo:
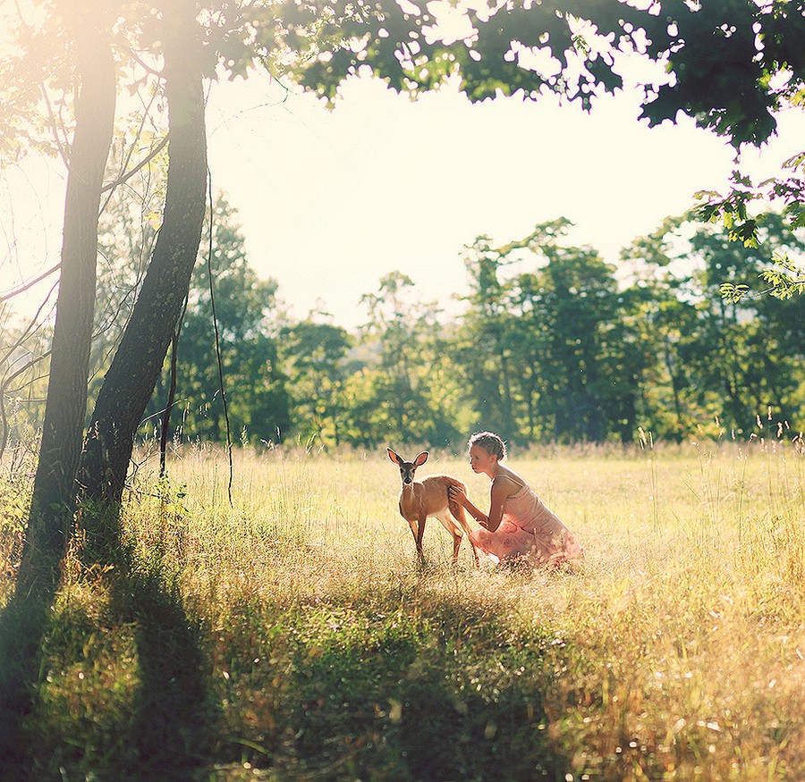
[[[116,526],[93,535],[105,547],[88,544],[85,566],[114,566],[102,610],[76,599],[40,613],[47,665],[31,668],[34,711],[0,778],[564,778],[544,713],[549,638],[505,618],[499,601],[440,592],[441,576],[433,590],[425,577],[322,601],[260,599],[217,639],[232,663],[224,685],[167,559],[144,558]],[[84,672],[94,689],[77,683]]]

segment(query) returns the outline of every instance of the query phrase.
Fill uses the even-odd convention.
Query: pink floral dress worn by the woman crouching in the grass
[[[470,539],[494,562],[522,557],[534,565],[558,567],[584,558],[572,532],[527,485],[506,498],[495,532],[480,527],[470,532]]]

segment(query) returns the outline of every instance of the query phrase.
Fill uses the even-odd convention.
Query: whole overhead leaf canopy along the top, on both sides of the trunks
[[[161,20],[178,3],[108,4],[132,89],[159,73]],[[9,77],[4,96],[14,98],[9,105],[17,112],[38,103],[38,85],[68,95],[64,55],[58,54],[69,59],[69,46],[59,45],[63,5],[45,3],[53,13],[38,27],[22,17],[16,23],[16,56],[0,65]],[[801,104],[805,90],[801,0],[664,0],[641,8],[617,0],[207,0],[197,10],[205,76],[267,69],[330,105],[344,80],[370,73],[411,95],[454,77],[472,101],[555,94],[589,109],[598,95],[623,87],[624,57],[637,55],[661,66],[647,71],[640,85],[642,118],[656,125],[682,112],[740,148],[769,139],[775,112]],[[23,62],[21,80],[14,67]],[[0,121],[13,137],[34,114],[0,113]]]

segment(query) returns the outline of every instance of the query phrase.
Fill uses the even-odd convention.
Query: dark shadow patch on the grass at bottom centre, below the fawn
[[[299,650],[279,778],[563,780],[570,764],[543,706],[547,642],[496,645],[495,619],[467,608],[436,601],[421,633],[386,619],[354,643],[347,634]]]

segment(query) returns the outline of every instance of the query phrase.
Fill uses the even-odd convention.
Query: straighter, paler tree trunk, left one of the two
[[[95,14],[103,16],[103,13]],[[108,30],[93,20],[76,40],[80,93],[64,205],[61,280],[45,422],[17,591],[47,592],[58,579],[75,509],[95,314],[97,214],[114,129],[115,75]]]

